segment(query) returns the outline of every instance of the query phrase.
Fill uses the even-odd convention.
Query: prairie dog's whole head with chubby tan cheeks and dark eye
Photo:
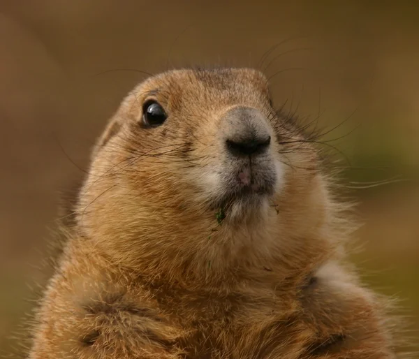
[[[78,228],[130,268],[253,265],[325,236],[317,161],[260,72],[169,71],[135,87],[98,140]]]

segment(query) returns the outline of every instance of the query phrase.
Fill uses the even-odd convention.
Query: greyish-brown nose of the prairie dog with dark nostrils
[[[226,148],[234,156],[263,154],[270,146],[269,125],[262,112],[238,107],[226,112],[221,119]]]

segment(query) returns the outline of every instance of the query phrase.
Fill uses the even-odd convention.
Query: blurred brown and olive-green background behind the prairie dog
[[[140,71],[190,65],[259,66],[277,105],[332,130],[364,221],[354,259],[419,330],[415,1],[0,0],[0,351],[108,117]]]

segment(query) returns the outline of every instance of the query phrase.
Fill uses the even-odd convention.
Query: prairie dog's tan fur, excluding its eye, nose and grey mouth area
[[[140,125],[150,97],[169,115],[155,129]],[[281,178],[269,205],[217,221],[217,136],[238,105],[265,115]],[[29,358],[395,358],[381,301],[342,264],[351,228],[304,139],[258,71],[138,85],[94,149]]]

